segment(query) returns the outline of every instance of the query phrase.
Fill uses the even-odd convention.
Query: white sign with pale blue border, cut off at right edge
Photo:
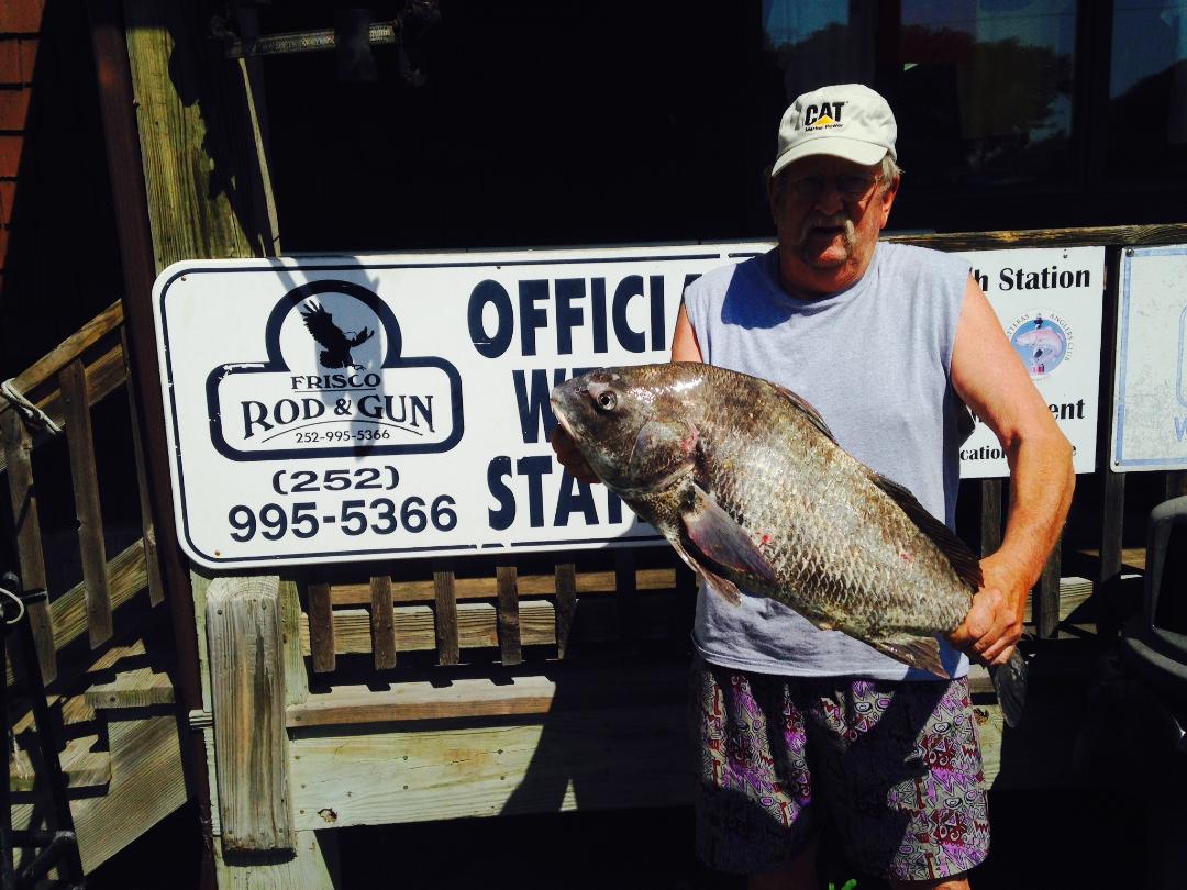
[[[1110,464],[1187,469],[1187,244],[1122,258]]]

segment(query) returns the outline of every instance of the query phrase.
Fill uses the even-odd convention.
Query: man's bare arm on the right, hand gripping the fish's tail
[[[970,278],[952,347],[952,384],[997,436],[1010,465],[1010,506],[997,552],[953,644],[1003,665],[1022,635],[1027,596],[1059,540],[1072,503],[1072,446]]]

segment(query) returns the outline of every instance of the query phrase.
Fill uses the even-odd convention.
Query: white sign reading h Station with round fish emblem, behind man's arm
[[[1075,472],[1093,472],[1100,387],[1103,247],[969,250],[1005,336],[1072,443]],[[1009,476],[1002,446],[977,424],[960,447],[960,477]]]

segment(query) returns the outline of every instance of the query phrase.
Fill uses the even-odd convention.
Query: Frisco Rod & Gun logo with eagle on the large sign
[[[233,460],[447,451],[463,432],[462,379],[438,356],[406,356],[377,294],[326,279],[273,307],[264,362],[207,376],[210,438]]]

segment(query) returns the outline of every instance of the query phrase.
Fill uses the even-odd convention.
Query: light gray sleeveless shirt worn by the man
[[[951,528],[960,473],[948,370],[967,279],[957,256],[878,243],[855,285],[800,299],[780,287],[772,250],[703,275],[684,303],[704,361],[804,396],[842,447]],[[768,674],[935,679],[773,599],[743,592],[735,606],[704,585],[693,642],[709,662]],[[940,655],[953,675],[967,673],[942,638]]]

